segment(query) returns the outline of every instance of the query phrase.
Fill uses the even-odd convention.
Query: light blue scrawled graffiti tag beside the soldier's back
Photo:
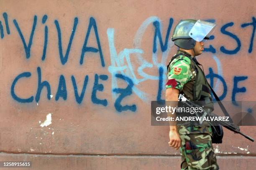
[[[171,26],[172,26],[172,18],[170,20],[171,20],[171,23],[169,23],[169,26],[168,26],[169,30],[171,29]],[[135,92],[135,94],[139,98],[141,98],[145,102],[150,101],[150,98],[151,98],[151,100],[156,100],[156,97],[155,96],[153,97],[152,95],[149,95],[148,93],[139,90],[138,87],[136,87],[136,85],[138,85],[140,82],[143,82],[143,81],[146,81],[146,80],[159,80],[159,76],[148,75],[143,70],[146,69],[146,68],[157,68],[157,70],[159,70],[160,67],[165,69],[164,66],[165,66],[167,57],[169,55],[169,51],[170,51],[171,47],[174,45],[174,43],[172,41],[166,40],[164,43],[162,42],[162,50],[164,50],[164,52],[162,53],[160,63],[157,61],[157,59],[158,59],[157,53],[154,53],[154,52],[152,53],[153,64],[149,63],[146,59],[144,59],[142,57],[143,50],[140,48],[141,47],[141,40],[142,40],[144,32],[146,31],[146,28],[148,26],[150,26],[152,23],[155,23],[155,25],[156,25],[154,42],[155,42],[155,48],[157,49],[157,47],[159,47],[158,46],[159,42],[160,43],[162,42],[160,40],[161,39],[161,32],[162,32],[161,31],[161,29],[162,29],[161,23],[162,22],[157,17],[153,16],[153,17],[147,18],[141,24],[140,28],[138,28],[138,31],[136,32],[136,35],[134,37],[134,46],[136,48],[133,48],[133,49],[126,49],[125,48],[124,50],[120,51],[119,53],[117,53],[117,51],[115,49],[114,29],[113,28],[108,28],[108,31],[107,31],[108,40],[109,40],[109,47],[110,47],[110,57],[111,57],[111,66],[108,67],[108,70],[112,74],[112,87],[113,87],[113,89],[117,88],[117,82],[116,82],[115,75],[118,72],[121,72],[121,74],[127,75],[128,77],[131,78],[131,80],[133,81],[133,83],[135,85],[135,86],[133,86],[132,90]],[[157,41],[157,37],[158,37],[159,41]],[[167,33],[166,33],[166,39],[168,39],[168,37],[169,37],[169,35],[167,35]],[[161,46],[161,44],[160,44],[160,46]],[[167,49],[165,49],[165,47]],[[138,75],[140,75],[142,77],[141,79],[136,77],[136,74],[133,70],[134,66],[131,64],[131,59],[130,59],[130,54],[131,53],[134,53],[134,55],[137,56],[136,62],[138,62],[138,64],[140,65],[137,69],[137,72],[138,72]],[[126,59],[127,65],[125,65],[124,59]],[[162,87],[159,87],[158,93],[161,93],[161,91],[164,87],[162,82],[165,79],[166,79],[166,76],[163,76],[163,80],[160,80],[159,83]],[[115,93],[112,93],[112,95],[113,95],[114,99],[117,96]],[[158,96],[161,96],[161,95],[158,95]]]

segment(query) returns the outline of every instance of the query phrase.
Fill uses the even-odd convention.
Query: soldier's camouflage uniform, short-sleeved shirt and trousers
[[[185,96],[193,100],[192,87],[197,73],[191,67],[191,55],[178,50],[177,54],[180,53],[186,55],[179,55],[170,63],[166,88],[176,88],[179,92],[186,91]],[[182,170],[219,169],[212,147],[212,129],[209,125],[177,125],[177,130],[182,141],[180,147]]]

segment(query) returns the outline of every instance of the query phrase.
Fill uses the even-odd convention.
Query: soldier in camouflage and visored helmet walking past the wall
[[[168,67],[166,101],[177,101],[184,94],[191,101],[202,101],[213,110],[210,87],[195,56],[202,54],[204,40],[215,24],[205,21],[181,20],[174,28],[172,41],[179,47]],[[212,147],[210,125],[170,125],[169,146],[181,152],[182,170],[218,170]]]

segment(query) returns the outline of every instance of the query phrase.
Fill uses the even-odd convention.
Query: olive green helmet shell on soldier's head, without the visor
[[[196,22],[197,20],[192,19],[179,21],[179,23],[174,28],[172,35],[172,41],[174,41],[175,45],[186,50],[195,47],[196,41],[189,36],[189,31],[193,28]],[[209,40],[209,37],[206,35],[204,39]]]

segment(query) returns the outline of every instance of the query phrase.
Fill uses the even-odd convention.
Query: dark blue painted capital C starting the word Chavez
[[[12,83],[12,86],[11,86],[11,95],[13,97],[14,100],[18,101],[18,102],[21,102],[21,103],[26,103],[26,102],[33,102],[34,100],[34,97],[31,96],[29,98],[26,98],[26,99],[23,99],[23,98],[20,98],[18,97],[15,92],[14,92],[14,88],[15,88],[15,85],[16,83],[18,82],[18,80],[22,77],[30,77],[31,76],[31,73],[30,72],[23,72],[21,74],[19,74],[14,80],[13,80],[13,83]]]

